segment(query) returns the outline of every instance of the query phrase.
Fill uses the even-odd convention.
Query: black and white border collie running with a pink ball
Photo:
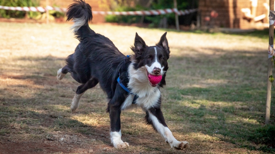
[[[166,84],[170,54],[166,33],[155,46],[147,46],[136,33],[134,45],[131,46],[134,54],[130,57],[119,52],[109,38],[90,29],[88,22],[93,18],[92,10],[85,1],[74,1],[66,15],[67,20],[73,19],[71,29],[80,41],[75,52],[66,58],[66,66],[57,72],[58,80],[70,72],[72,78],[81,84],[72,100],[71,111],[79,107],[79,100],[85,91],[99,83],[109,99],[107,112],[114,147],[129,146],[121,140],[121,111],[139,106],[146,113],[147,124],[152,125],[171,148],[185,149],[188,142],[175,139],[160,110],[160,88]],[[158,83],[150,82],[150,76],[160,76],[161,79]]]

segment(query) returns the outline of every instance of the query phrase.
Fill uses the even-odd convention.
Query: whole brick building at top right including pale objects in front
[[[199,10],[201,25],[250,29],[268,23],[269,0],[199,0]],[[212,10],[219,15],[207,23]]]

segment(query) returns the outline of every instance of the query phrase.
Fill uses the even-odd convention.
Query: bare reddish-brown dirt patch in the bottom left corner
[[[30,153],[100,153],[100,151],[114,151],[111,146],[97,146],[95,142],[109,140],[105,135],[93,139],[91,135],[63,134],[60,131],[53,132],[55,135],[48,134],[44,139],[34,139],[22,141],[15,139],[14,135],[5,134],[0,141],[0,154],[30,154]]]

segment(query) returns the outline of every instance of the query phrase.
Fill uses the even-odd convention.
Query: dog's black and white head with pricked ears
[[[167,32],[165,32],[156,46],[147,46],[144,40],[135,34],[134,46],[131,49],[134,52],[133,60],[135,62],[135,69],[145,67],[148,79],[149,76],[162,76],[165,77],[165,73],[168,70],[167,60],[170,57],[170,50],[168,47],[168,41],[166,38]],[[163,84],[165,80],[163,78]],[[157,84],[151,83],[151,86],[157,86]]]

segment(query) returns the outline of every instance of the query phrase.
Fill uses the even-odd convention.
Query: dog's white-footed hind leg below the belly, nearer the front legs
[[[93,88],[98,84],[98,80],[96,78],[91,78],[85,84],[81,84],[77,87],[77,90],[74,95],[74,99],[72,100],[71,111],[74,112],[79,107],[79,100],[86,90]]]

